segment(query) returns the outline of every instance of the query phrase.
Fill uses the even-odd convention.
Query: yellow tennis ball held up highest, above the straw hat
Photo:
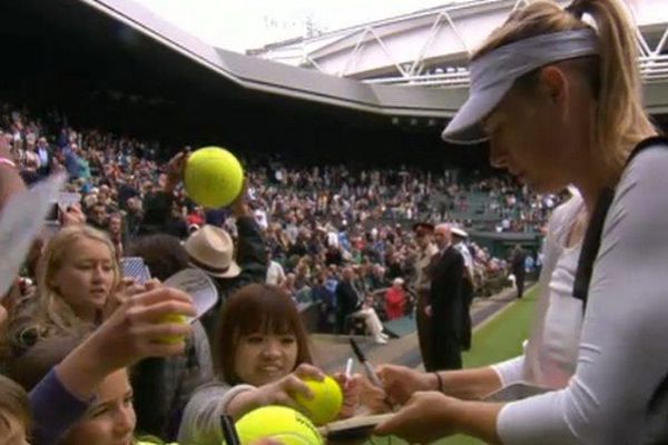
[[[184,184],[190,199],[203,207],[232,204],[244,187],[244,169],[233,154],[220,147],[205,147],[188,157]]]

